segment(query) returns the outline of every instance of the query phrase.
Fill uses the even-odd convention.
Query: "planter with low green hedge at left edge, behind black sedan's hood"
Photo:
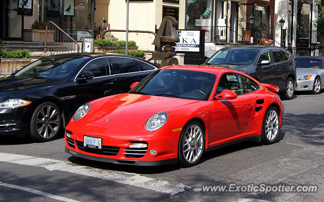
[[[9,76],[12,72],[31,63],[30,53],[27,49],[7,52],[0,49],[0,77]]]

